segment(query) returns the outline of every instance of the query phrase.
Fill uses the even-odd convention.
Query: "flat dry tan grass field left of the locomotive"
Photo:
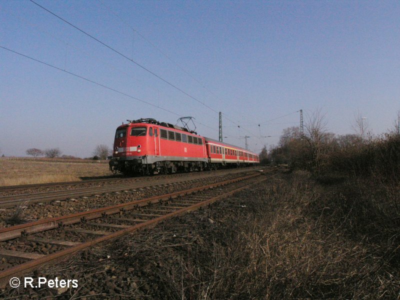
[[[81,180],[107,176],[107,161],[83,159],[0,158],[0,186]]]

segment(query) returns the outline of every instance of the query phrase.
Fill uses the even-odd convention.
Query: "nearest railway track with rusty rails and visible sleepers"
[[[0,229],[0,287],[43,264],[197,209],[268,177],[255,173],[183,191]]]

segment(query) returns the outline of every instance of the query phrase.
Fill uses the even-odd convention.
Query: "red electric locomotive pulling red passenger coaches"
[[[124,174],[240,167],[259,163],[258,155],[193,130],[152,118],[127,120],[115,132],[110,170]]]

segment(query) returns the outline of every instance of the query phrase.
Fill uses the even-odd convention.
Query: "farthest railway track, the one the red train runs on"
[[[241,168],[245,170],[256,169],[257,167],[246,167]],[[229,172],[236,169],[223,169],[217,171],[205,171],[205,172],[214,172],[214,173],[224,173]],[[102,183],[114,183],[114,182],[142,182],[142,181],[156,181],[160,178],[167,178],[167,177],[186,177],[190,176],[191,174],[196,174],[197,172],[191,173],[175,173],[175,174],[168,174],[168,175],[155,175],[155,176],[143,176],[143,177],[123,177],[123,176],[115,176],[111,178],[100,178],[100,179],[86,179],[80,181],[65,181],[65,182],[51,182],[51,183],[38,183],[38,184],[24,184],[24,185],[7,185],[7,186],[0,186],[0,193],[4,192],[15,192],[18,190],[35,190],[35,189],[48,189],[52,187],[65,187],[65,186],[76,186],[76,185],[84,185],[84,184],[102,184]]]

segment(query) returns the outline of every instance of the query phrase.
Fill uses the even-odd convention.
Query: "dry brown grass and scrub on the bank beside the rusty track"
[[[283,174],[89,250],[52,274],[79,279],[63,297],[71,299],[92,290],[119,299],[398,299],[399,186]]]

